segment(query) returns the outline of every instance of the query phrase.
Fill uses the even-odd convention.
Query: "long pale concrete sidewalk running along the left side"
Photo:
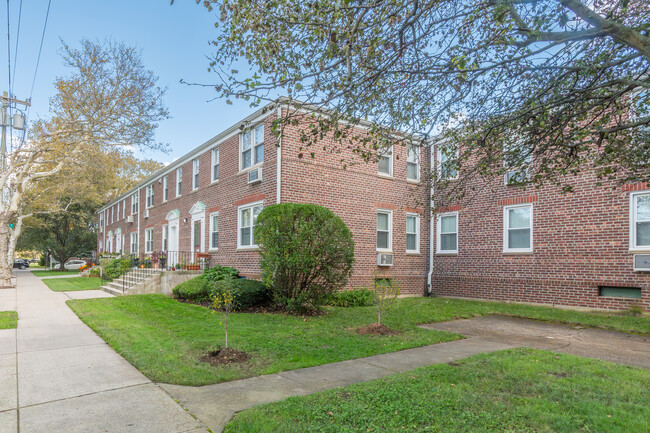
[[[198,432],[205,427],[119,356],[31,272],[0,289],[0,310],[18,328],[0,330],[0,433]]]

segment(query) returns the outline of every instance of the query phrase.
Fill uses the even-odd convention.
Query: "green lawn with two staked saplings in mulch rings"
[[[233,314],[231,347],[252,359],[239,366],[213,367],[200,361],[223,344],[218,315],[164,295],[68,301],[70,307],[117,352],[157,382],[204,385],[321,365],[460,338],[417,328],[486,314],[601,326],[650,334],[650,317],[614,316],[524,305],[441,298],[406,298],[396,302],[384,323],[396,336],[357,335],[355,329],[375,320],[374,307],[331,308],[320,317],[279,314]]]

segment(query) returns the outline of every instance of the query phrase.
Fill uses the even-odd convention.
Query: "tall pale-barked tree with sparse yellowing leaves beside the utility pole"
[[[35,122],[24,141],[11,143],[0,165],[0,286],[11,285],[24,220],[65,210],[70,203],[59,198],[66,197],[65,189],[75,188],[73,179],[84,178],[75,168],[100,152],[166,148],[154,137],[158,122],[168,117],[165,90],[156,85],[157,77],[144,67],[137,50],[113,41],[83,40],[79,48],[64,43],[62,54],[71,74],[56,79],[50,117]],[[53,181],[64,173],[73,177]]]

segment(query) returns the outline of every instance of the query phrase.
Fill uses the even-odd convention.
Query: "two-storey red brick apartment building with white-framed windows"
[[[595,187],[586,173],[562,194],[499,179],[429,218],[425,174],[431,161],[445,163],[436,146],[394,146],[379,162],[344,169],[351,151],[320,145],[305,156],[296,127],[276,138],[278,115],[258,110],[108,203],[100,251],[201,251],[254,278],[261,208],[316,203],[352,231],[350,287],[389,277],[404,294],[650,310],[650,273],[634,264],[650,263],[650,185]],[[378,266],[379,254],[393,265]]]

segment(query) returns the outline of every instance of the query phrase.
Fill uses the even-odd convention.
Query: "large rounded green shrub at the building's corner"
[[[323,206],[282,203],[257,217],[262,281],[276,303],[317,309],[327,294],[345,287],[354,262],[352,233]]]

